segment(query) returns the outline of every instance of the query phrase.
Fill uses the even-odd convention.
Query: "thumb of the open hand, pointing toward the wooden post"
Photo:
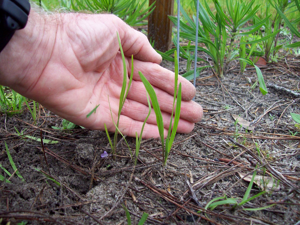
[[[160,64],[162,57],[158,54],[143,33],[131,28],[121,19],[118,20],[119,35],[126,56],[134,55],[135,59]]]

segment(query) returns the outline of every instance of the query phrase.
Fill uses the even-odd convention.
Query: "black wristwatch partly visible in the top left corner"
[[[28,0],[0,0],[0,52],[15,31],[26,26],[29,11]]]

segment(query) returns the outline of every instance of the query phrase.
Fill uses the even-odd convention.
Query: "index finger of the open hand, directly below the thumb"
[[[129,66],[131,67],[131,64],[129,64]],[[165,90],[171,95],[174,95],[174,72],[152,62],[134,60],[134,80],[141,81],[139,71],[142,72],[150,84],[160,88],[161,90]],[[179,83],[181,83],[182,87],[182,100],[192,100],[196,94],[196,88],[193,84],[182,76],[178,76],[178,86]]]

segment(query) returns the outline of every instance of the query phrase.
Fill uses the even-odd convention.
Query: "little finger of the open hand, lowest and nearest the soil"
[[[127,135],[130,137],[135,137],[136,136],[136,132],[138,134],[138,136],[140,136],[140,132],[142,130],[143,127],[143,122],[138,121],[138,120],[134,120],[128,116],[124,116],[121,115],[120,116],[120,121],[119,121],[119,130],[122,132],[123,135]],[[110,126],[107,127],[108,131],[110,132],[114,132],[115,131],[115,127]],[[164,137],[166,138],[168,134],[168,130],[164,129]],[[160,137],[159,132],[158,132],[158,127],[155,124],[151,124],[151,123],[146,123],[143,129],[143,135],[142,138],[158,138]]]

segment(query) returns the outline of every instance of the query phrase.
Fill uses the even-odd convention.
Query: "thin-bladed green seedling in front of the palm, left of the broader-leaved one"
[[[133,55],[131,56],[131,74],[130,74],[130,78],[129,78],[129,82],[128,82],[128,87],[127,87],[127,90],[126,90],[126,86],[127,86],[127,69],[126,69],[126,62],[125,62],[125,56],[124,56],[124,52],[123,52],[123,48],[122,48],[122,45],[121,45],[121,40],[120,40],[120,37],[119,37],[119,33],[117,33],[117,36],[118,36],[118,41],[119,41],[119,47],[120,47],[120,51],[121,51],[121,55],[122,55],[122,61],[123,61],[123,83],[122,83],[122,89],[121,89],[121,93],[120,93],[120,101],[119,101],[119,111],[118,111],[118,120],[117,120],[117,123],[114,122],[113,120],[113,114],[112,114],[112,111],[110,110],[110,114],[111,114],[111,117],[112,117],[112,120],[113,120],[113,123],[116,127],[115,129],[115,135],[114,135],[114,139],[113,139],[113,142],[111,141],[110,139],[110,136],[108,134],[108,130],[107,130],[107,126],[106,124],[104,123],[104,128],[105,128],[105,132],[107,134],[107,138],[110,142],[110,147],[112,149],[112,153],[113,153],[113,158],[115,159],[115,154],[116,154],[116,145],[117,145],[117,139],[118,139],[118,132],[122,135],[122,137],[125,139],[124,135],[121,133],[121,131],[119,130],[119,121],[120,121],[120,116],[121,116],[121,111],[122,111],[122,108],[123,108],[123,105],[125,103],[125,100],[126,100],[126,97],[127,97],[127,94],[129,92],[129,88],[130,88],[130,85],[131,85],[131,82],[132,82],[132,78],[133,78],[133,72],[134,72],[134,67],[133,67]],[[125,93],[126,91],[126,93]],[[126,141],[126,140],[125,140]],[[127,141],[126,141],[127,143]],[[128,144],[127,144],[128,145]],[[128,148],[129,148],[129,151],[131,152],[131,149],[128,145]],[[131,156],[132,156],[132,153],[131,153]]]

